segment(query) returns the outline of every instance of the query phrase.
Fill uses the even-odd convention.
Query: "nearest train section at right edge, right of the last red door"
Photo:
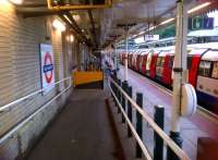
[[[218,50],[210,49],[202,57],[196,93],[198,103],[218,114]]]

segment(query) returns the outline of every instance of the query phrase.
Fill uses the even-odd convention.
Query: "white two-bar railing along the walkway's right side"
[[[112,79],[109,78],[110,82],[112,82],[117,88],[122,93],[122,95],[131,102],[131,104],[137,110],[138,113],[141,113],[141,115],[144,118],[145,121],[147,121],[147,123],[149,124],[149,126],[152,126],[154,128],[154,131],[164,139],[164,141],[173,150],[173,152],[181,159],[181,160],[190,160],[189,156],[154,122],[154,120],[143,110],[140,108],[140,106]],[[112,95],[114,96],[114,93],[112,90],[112,88],[109,85],[109,88],[112,93]],[[116,96],[114,96],[116,97]],[[118,101],[117,97],[116,97],[117,102],[119,103],[119,107],[121,107],[120,102]],[[122,107],[121,107],[122,108]],[[122,110],[122,109],[121,109]],[[124,115],[124,114],[123,114]],[[126,115],[126,114],[125,114]],[[124,115],[124,118],[125,118]],[[129,118],[126,116],[126,119],[129,120]],[[130,120],[129,120],[130,122]],[[128,122],[128,123],[129,123]],[[130,122],[131,123],[131,122]],[[129,123],[129,125],[130,125]],[[132,130],[132,125],[130,125],[131,130]],[[141,144],[142,140],[140,138],[140,136],[137,135],[137,133],[135,132],[135,128],[133,127],[134,132],[134,136],[136,138],[136,140],[138,141],[143,153],[145,155],[146,158],[150,158],[147,157],[147,149],[145,148],[144,144]],[[145,150],[146,149],[146,150]]]

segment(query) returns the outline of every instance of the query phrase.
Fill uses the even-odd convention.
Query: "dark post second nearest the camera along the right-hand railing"
[[[136,94],[136,103],[143,108],[143,94],[137,93]],[[136,112],[136,132],[141,139],[143,138],[143,119],[141,113]],[[142,158],[142,149],[140,145],[136,143],[136,158]]]

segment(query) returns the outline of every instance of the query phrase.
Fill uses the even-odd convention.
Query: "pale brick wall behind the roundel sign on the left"
[[[65,46],[63,42],[66,41],[63,40],[64,37],[60,32],[51,27],[52,19],[23,19],[22,15],[16,14],[12,4],[0,5],[0,106],[40,89],[39,44],[52,44],[56,81],[70,76],[69,62],[64,60],[68,60],[68,52],[70,52],[68,49],[71,47],[63,49]],[[46,40],[46,36],[50,36],[50,40]],[[63,84],[59,85],[46,95],[37,95],[15,104],[9,112],[0,113],[0,136],[63,88]],[[63,106],[69,95],[70,91],[53,101],[12,137],[0,144],[0,160],[13,160],[24,153]]]

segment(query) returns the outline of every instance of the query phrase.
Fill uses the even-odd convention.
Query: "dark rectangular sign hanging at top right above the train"
[[[202,17],[202,16],[192,17],[189,20],[189,28],[191,30],[213,29],[214,17]]]

